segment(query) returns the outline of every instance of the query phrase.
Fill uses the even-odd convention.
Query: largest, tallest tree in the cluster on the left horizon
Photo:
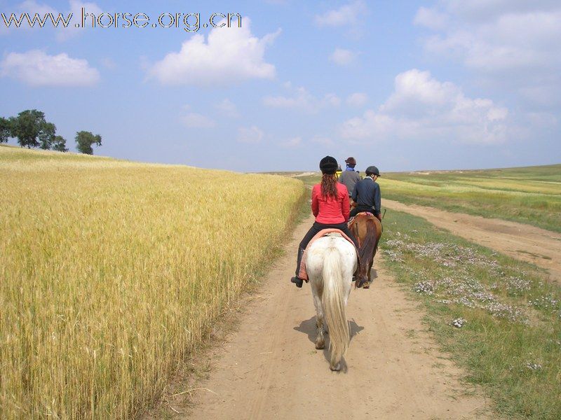
[[[27,109],[11,117],[12,136],[18,137],[20,146],[27,148],[39,147],[48,148],[48,144],[55,134],[54,124],[47,123],[45,114],[36,109]]]

